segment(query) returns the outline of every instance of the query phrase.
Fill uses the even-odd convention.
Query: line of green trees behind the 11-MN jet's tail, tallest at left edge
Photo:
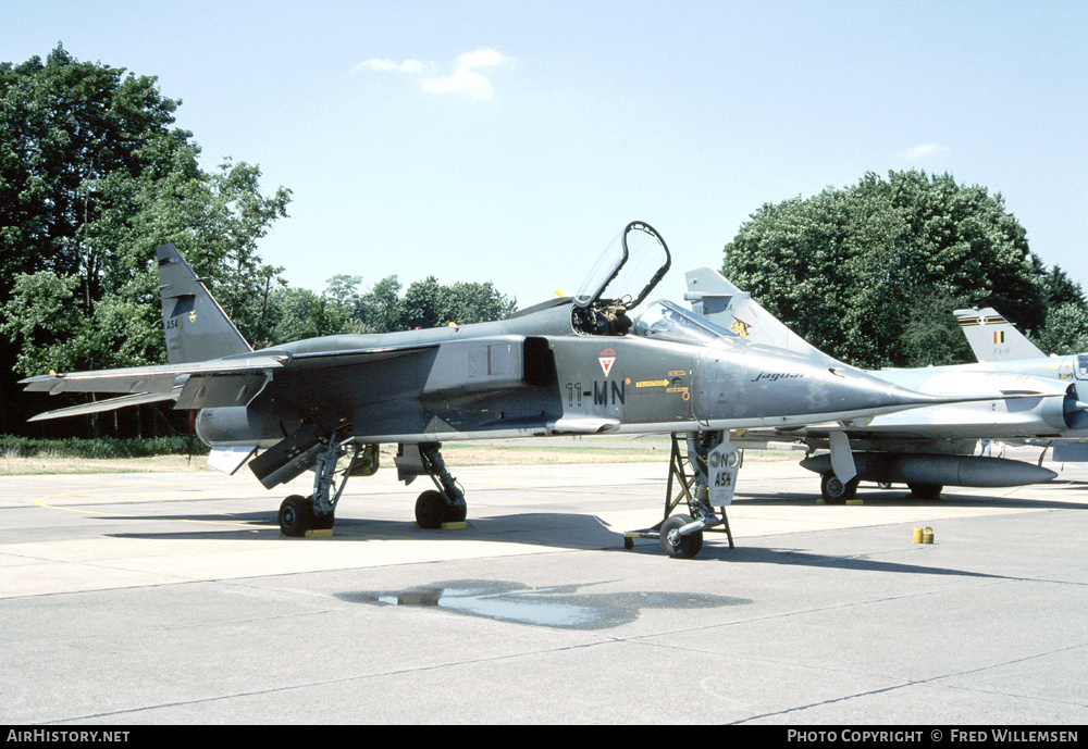
[[[403,296],[396,276],[369,290],[348,275],[322,292],[290,287],[257,251],[290,190],[263,192],[260,168],[242,161],[201,168],[193,133],[174,126],[180,105],[154,76],[78,61],[63,45],[45,61],[0,63],[0,434],[59,405],[28,405],[22,376],[165,360],[154,262],[165,242],[255,348],[514,311],[490,283],[429,277]]]

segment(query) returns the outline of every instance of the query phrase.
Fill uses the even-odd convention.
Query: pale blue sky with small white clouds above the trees
[[[577,289],[631,220],[719,267],[764,203],[916,167],[1004,196],[1088,288],[1088,3],[7,0],[0,60],[156,75],[206,168],[294,191],[260,251]]]

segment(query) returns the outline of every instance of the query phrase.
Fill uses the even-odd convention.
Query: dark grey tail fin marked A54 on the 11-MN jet
[[[169,363],[202,362],[254,350],[177,248],[161,245],[156,254]]]

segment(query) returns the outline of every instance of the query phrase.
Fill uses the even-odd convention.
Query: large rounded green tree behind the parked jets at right
[[[962,361],[956,305],[1040,329],[1039,267],[1000,194],[911,170],[764,205],[722,273],[814,346],[879,367]]]

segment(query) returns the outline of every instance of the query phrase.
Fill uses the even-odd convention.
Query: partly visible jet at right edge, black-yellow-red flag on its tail
[[[953,314],[960,321],[970,350],[988,369],[1067,382],[1072,389],[1079,388],[1088,397],[1088,353],[1048,357],[992,307],[956,310]],[[1084,463],[1088,462],[1086,440],[1088,429],[1081,429],[1079,437],[1047,435],[1031,440],[1031,444],[1053,447],[1055,462]]]

